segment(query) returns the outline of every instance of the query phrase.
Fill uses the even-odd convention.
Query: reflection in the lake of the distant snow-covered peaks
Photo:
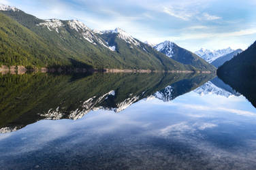
[[[206,82],[203,86],[193,90],[199,95],[220,95],[224,97],[233,97],[234,95],[231,92],[228,92],[222,88],[215,86],[212,82]]]

